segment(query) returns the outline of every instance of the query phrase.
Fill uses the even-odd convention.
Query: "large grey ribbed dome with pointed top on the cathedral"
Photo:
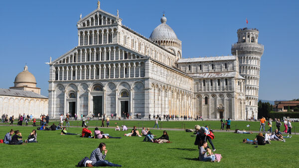
[[[161,40],[178,40],[176,34],[169,25],[166,24],[166,17],[161,17],[161,24],[158,25],[150,34],[149,39],[152,41]]]

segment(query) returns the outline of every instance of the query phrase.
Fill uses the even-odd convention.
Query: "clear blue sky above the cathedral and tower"
[[[183,57],[231,55],[237,29],[260,30],[265,46],[259,98],[299,98],[299,1],[296,0],[101,0],[101,8],[149,37],[165,11],[182,41]],[[49,57],[77,45],[76,22],[95,10],[97,0],[1,0],[0,88],[13,86],[27,63],[41,94],[48,95]]]

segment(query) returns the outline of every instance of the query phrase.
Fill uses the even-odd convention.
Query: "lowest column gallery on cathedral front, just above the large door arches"
[[[145,62],[54,66],[52,80],[136,78],[145,76]]]

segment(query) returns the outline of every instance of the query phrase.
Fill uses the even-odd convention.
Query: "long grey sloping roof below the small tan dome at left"
[[[0,95],[48,99],[48,97],[45,97],[43,95],[31,92],[31,91],[14,90],[14,89],[2,89],[2,88],[0,88]]]

